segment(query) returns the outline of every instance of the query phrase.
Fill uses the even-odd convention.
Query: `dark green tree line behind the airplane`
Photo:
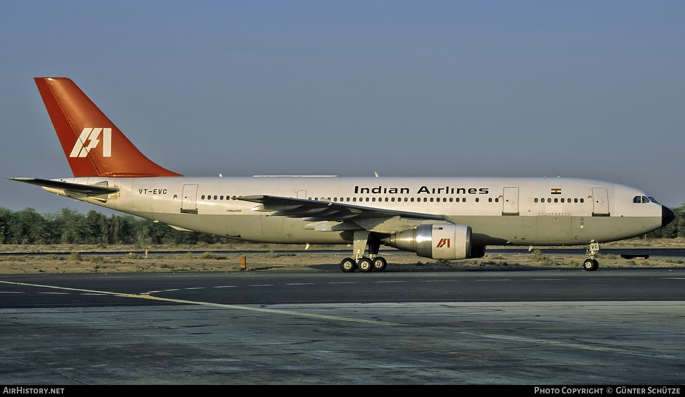
[[[685,238],[685,204],[671,208],[675,220],[647,238]],[[164,223],[131,215],[106,216],[95,210],[82,214],[63,208],[38,214],[33,208],[12,211],[0,207],[0,244],[208,244],[231,241],[195,231],[177,231]]]

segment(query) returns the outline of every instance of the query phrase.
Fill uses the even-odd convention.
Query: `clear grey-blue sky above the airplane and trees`
[[[1,1],[1,177],[70,77],[184,175],[591,177],[685,202],[684,1]],[[0,181],[0,206],[99,209]]]

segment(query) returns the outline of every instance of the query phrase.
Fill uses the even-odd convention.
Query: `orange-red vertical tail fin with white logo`
[[[70,79],[36,77],[75,177],[180,177],[145,157]]]

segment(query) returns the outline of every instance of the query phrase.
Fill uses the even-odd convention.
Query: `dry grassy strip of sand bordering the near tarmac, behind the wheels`
[[[347,251],[340,254],[317,255],[306,253],[279,255],[277,251],[248,255],[248,270],[299,270],[299,271],[340,271],[340,259]],[[388,260],[389,268],[395,270],[448,270],[448,269],[483,269],[483,268],[582,268],[584,257],[548,256],[545,250],[532,251],[529,255],[486,255],[478,259],[459,261],[436,261],[417,257],[413,253],[397,250],[382,251]],[[682,267],[678,261],[660,261],[654,259],[622,259],[607,255],[600,259],[602,268],[635,268],[635,267]],[[681,261],[682,262],[682,261]],[[56,257],[2,257],[0,256],[0,274],[22,273],[83,273],[83,272],[234,272],[240,270],[240,254],[219,256],[208,252],[202,255],[139,255],[136,253],[119,257],[102,257],[71,255]]]

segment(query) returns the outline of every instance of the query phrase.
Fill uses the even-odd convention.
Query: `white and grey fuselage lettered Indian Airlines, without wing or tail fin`
[[[83,177],[59,179],[119,188],[97,198],[71,196],[127,214],[256,242],[348,244],[349,233],[316,230],[307,218],[270,216],[240,196],[270,195],[375,209],[432,214],[467,225],[480,245],[580,245],[643,235],[662,226],[662,207],[629,186],[571,178],[438,177]],[[360,220],[364,229],[393,233],[408,218]],[[314,222],[316,223],[316,222]]]

